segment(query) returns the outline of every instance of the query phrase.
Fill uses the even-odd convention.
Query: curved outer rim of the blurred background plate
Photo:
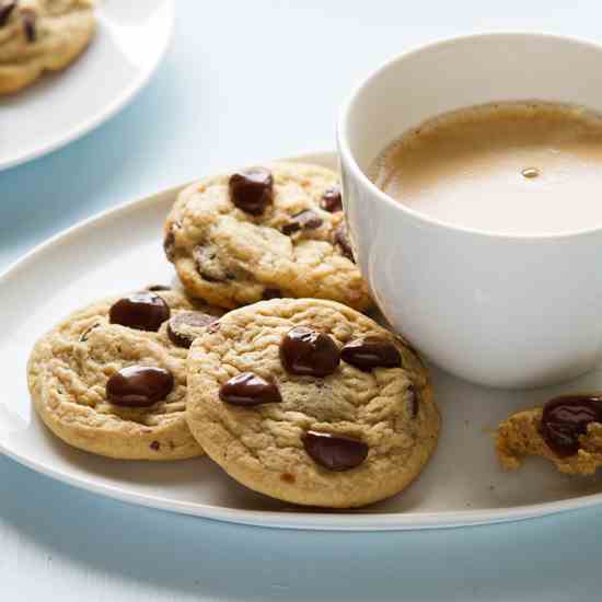
[[[0,161],[0,172],[4,170],[10,170],[11,167],[16,167],[18,165],[23,165],[35,159],[39,159],[46,154],[49,154],[56,150],[59,150],[71,142],[83,138],[86,134],[95,130],[97,127],[102,126],[108,119],[117,115],[121,109],[124,109],[139,92],[141,92],[147,84],[149,83],[152,76],[155,73],[159,66],[163,62],[165,54],[171,45],[171,42],[174,36],[175,27],[175,0],[162,0],[165,3],[167,11],[166,25],[166,35],[162,47],[160,48],[157,60],[150,65],[150,67],[142,71],[116,99],[114,99],[102,111],[94,114],[92,117],[89,117],[82,120],[80,124],[71,127],[66,134],[60,135],[57,139],[50,140],[47,144],[38,147],[32,151],[26,151],[23,154],[20,154],[8,161]]]

